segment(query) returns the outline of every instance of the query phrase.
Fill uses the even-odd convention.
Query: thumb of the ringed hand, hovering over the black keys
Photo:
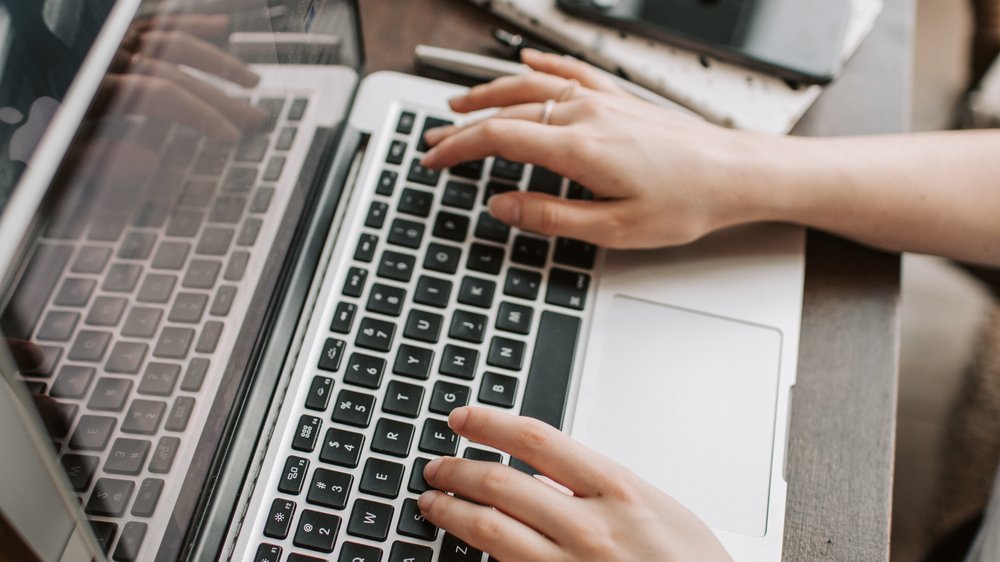
[[[523,230],[609,245],[618,231],[614,211],[619,204],[514,191],[490,198],[489,209],[497,220]]]

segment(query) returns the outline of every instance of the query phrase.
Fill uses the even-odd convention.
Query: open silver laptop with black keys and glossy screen
[[[416,509],[437,456],[532,470],[451,433],[473,404],[780,559],[802,230],[612,252],[508,228],[495,193],[592,194],[420,166],[462,88],[363,76],[358,12],[0,2],[0,548],[483,562]]]

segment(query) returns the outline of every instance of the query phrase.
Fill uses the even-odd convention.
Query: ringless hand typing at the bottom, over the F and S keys
[[[572,492],[499,463],[428,463],[428,484],[483,505],[429,491],[419,500],[424,517],[474,548],[504,562],[731,560],[684,506],[543,422],[465,407],[448,424]]]

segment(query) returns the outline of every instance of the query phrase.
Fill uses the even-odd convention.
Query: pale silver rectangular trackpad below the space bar
[[[584,441],[709,526],[764,536],[781,333],[624,296],[605,320]]]

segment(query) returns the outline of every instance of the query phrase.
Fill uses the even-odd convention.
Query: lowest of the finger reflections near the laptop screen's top
[[[177,84],[158,76],[110,76],[103,90],[117,97],[117,110],[177,121],[209,136],[236,142],[240,131],[226,116]]]

